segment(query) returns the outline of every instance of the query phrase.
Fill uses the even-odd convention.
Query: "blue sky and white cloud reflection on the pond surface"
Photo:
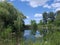
[[[40,32],[37,30],[35,35],[31,34],[31,30],[25,30],[24,31],[24,38],[25,40],[35,40],[36,38],[41,38],[42,35],[40,35]]]

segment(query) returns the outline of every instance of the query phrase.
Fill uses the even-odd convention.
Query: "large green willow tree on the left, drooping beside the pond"
[[[0,2],[0,30],[6,30],[8,26],[12,27],[11,30],[15,32],[16,45],[19,44],[19,37],[22,37],[24,30],[24,19],[26,17],[20,13],[11,3]],[[4,32],[4,30],[2,32]],[[7,31],[7,30],[6,30]],[[5,32],[6,32],[5,31]],[[8,31],[9,33],[9,31]],[[7,34],[6,34],[7,35]]]

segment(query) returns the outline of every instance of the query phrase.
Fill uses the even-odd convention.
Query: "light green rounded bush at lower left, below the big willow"
[[[11,27],[7,27],[3,29],[0,36],[2,39],[11,38],[11,33],[12,33]]]

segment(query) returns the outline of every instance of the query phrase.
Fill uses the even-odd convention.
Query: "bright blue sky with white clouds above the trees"
[[[60,10],[60,0],[9,0],[27,19],[25,24],[30,24],[31,20],[38,23],[42,20],[43,12]]]

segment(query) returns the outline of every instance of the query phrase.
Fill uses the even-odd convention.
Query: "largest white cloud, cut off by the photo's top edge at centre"
[[[46,4],[49,0],[21,0],[27,1],[31,7],[38,7]]]

